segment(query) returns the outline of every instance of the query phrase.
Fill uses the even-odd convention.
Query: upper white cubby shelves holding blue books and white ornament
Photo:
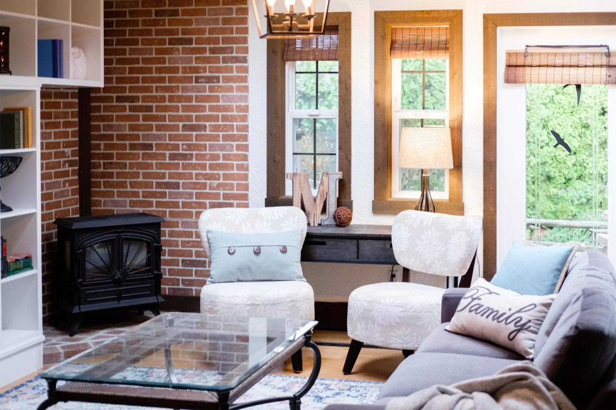
[[[0,87],[103,86],[103,0],[0,0],[0,26],[10,27],[10,70]],[[38,77],[37,40],[63,40],[63,78]],[[86,79],[70,78],[70,50],[87,57]]]

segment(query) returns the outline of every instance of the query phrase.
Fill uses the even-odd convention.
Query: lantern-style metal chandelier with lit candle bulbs
[[[301,38],[314,37],[325,33],[325,22],[327,12],[330,8],[330,0],[325,0],[323,10],[323,23],[315,28],[315,20],[317,17],[316,4],[317,0],[252,0],[254,17],[257,20],[257,28],[259,29],[259,37],[261,38]],[[261,27],[261,18],[257,8],[257,2],[261,2],[265,6],[265,18],[267,19],[267,32],[263,32]],[[284,9],[282,7],[284,3]],[[302,3],[299,6],[296,3]],[[299,7],[298,7],[299,6]],[[303,12],[300,12],[300,8]]]

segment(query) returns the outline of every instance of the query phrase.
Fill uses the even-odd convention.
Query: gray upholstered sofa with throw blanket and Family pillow
[[[506,348],[444,330],[466,289],[448,289],[442,324],[389,377],[371,406],[327,410],[383,410],[388,400],[434,384],[490,376],[522,356]],[[601,252],[577,255],[535,345],[535,366],[578,409],[616,409],[616,276]]]

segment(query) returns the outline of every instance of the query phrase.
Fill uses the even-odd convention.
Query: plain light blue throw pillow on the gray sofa
[[[557,293],[578,244],[532,246],[514,242],[490,283],[522,295]]]

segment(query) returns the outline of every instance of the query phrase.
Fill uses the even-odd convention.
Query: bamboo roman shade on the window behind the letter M
[[[285,40],[285,61],[338,60],[338,27],[326,27],[325,34],[312,38]]]

